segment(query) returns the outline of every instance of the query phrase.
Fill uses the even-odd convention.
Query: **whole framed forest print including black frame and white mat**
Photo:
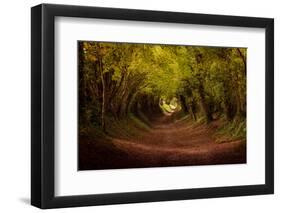
[[[31,9],[31,203],[272,194],[274,21]]]

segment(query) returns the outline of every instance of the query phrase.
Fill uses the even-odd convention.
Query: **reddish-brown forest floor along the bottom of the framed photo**
[[[166,114],[138,137],[108,143],[80,137],[79,170],[246,163],[245,141],[217,143],[216,128]]]

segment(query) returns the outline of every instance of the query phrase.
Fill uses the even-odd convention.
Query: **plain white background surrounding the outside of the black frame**
[[[37,0],[2,1],[0,10],[0,212],[39,212],[30,197],[30,7]],[[50,212],[280,212],[281,13],[279,1],[58,0],[80,4],[275,18],[275,195],[50,210]],[[237,174],[239,175],[239,174]]]

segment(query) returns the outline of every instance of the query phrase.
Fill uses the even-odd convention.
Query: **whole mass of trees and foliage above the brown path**
[[[78,45],[80,132],[95,127],[106,133],[108,122],[130,114],[146,120],[161,113],[163,100],[179,103],[194,121],[245,126],[245,48]]]

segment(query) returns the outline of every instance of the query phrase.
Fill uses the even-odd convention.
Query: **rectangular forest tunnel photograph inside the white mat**
[[[77,41],[78,170],[247,163],[247,48]]]

